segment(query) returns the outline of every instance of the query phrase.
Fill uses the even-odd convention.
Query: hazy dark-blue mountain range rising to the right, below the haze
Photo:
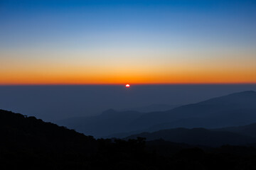
[[[256,122],[256,92],[240,93],[211,98],[169,111],[139,113],[136,111],[107,111],[89,118],[72,118],[58,121],[59,125],[104,137],[125,132],[154,132],[170,128],[223,128]]]

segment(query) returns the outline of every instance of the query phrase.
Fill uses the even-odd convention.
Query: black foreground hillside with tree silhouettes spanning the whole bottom
[[[0,110],[0,169],[256,169],[254,147],[201,149],[155,140],[95,140]],[[220,168],[221,167],[221,168]]]

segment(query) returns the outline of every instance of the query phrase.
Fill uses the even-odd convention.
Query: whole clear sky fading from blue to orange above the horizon
[[[0,84],[256,83],[256,1],[0,1]]]

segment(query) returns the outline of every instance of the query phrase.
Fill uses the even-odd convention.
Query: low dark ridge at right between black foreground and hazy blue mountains
[[[256,142],[254,137],[240,135],[234,132],[206,130],[204,128],[176,128],[159,130],[157,132],[143,132],[137,135],[131,135],[124,139],[137,139],[137,137],[145,137],[148,141],[162,139],[170,142],[210,147],[220,147],[222,145],[247,145]]]

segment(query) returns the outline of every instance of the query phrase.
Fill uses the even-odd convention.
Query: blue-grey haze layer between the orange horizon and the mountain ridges
[[[0,86],[0,108],[55,121],[100,115],[110,108],[140,111],[160,105],[156,111],[169,110],[161,105],[180,106],[248,90],[256,91],[256,85]]]

